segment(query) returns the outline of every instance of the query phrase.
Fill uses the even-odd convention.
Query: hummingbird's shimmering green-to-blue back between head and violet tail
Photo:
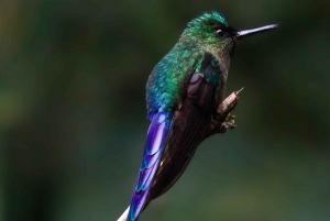
[[[204,52],[193,44],[177,43],[152,70],[146,84],[147,114],[174,111],[200,65]]]

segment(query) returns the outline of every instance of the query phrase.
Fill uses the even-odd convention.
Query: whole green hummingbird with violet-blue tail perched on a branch
[[[205,12],[187,24],[178,42],[154,67],[146,84],[151,124],[127,221],[136,221],[187,168],[205,128],[224,99],[230,59],[238,43],[276,26],[235,31],[220,13]]]

